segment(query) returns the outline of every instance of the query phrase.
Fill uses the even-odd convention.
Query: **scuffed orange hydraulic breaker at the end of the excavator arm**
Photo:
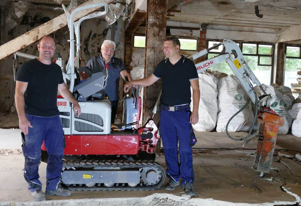
[[[260,176],[263,176],[264,173],[270,172],[278,128],[284,125],[284,120],[272,109],[266,107],[260,109],[257,119],[260,122],[259,134],[262,136],[258,140],[253,167],[255,171],[260,172]]]

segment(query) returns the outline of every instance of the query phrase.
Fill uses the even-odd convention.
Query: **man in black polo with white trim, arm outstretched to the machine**
[[[198,122],[198,106],[194,106],[191,113],[190,87],[193,90],[193,105],[199,105],[200,89],[197,69],[191,60],[180,54],[180,46],[176,37],[167,37],[163,46],[167,58],[157,65],[153,75],[125,84],[124,91],[128,92],[132,85],[147,87],[162,78],[160,131],[167,167],[166,175],[169,177],[165,189],[174,190],[180,184],[181,178],[185,193],[196,195],[192,186],[194,170],[189,142],[191,124]]]

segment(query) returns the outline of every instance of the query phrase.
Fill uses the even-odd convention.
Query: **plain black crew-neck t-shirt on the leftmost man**
[[[38,59],[24,62],[17,72],[17,81],[28,82],[24,93],[25,113],[53,117],[57,109],[57,87],[64,83],[61,67],[53,62],[43,64]]]

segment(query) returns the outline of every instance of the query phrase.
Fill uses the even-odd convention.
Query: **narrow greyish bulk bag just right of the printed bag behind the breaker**
[[[290,87],[286,86],[276,86],[275,87],[278,91],[282,93],[282,100],[284,101],[284,107],[285,107],[285,112],[286,112],[286,118],[288,122],[289,129],[292,128],[292,123],[295,118],[292,118],[290,116],[290,113],[288,112],[289,109],[292,109],[293,102],[295,101],[295,97],[293,97],[292,90]]]

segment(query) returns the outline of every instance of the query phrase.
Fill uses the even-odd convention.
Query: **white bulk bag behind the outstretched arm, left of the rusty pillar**
[[[144,54],[145,49],[137,49],[132,54],[131,66],[133,67],[130,72],[133,80],[144,78]],[[143,108],[143,87],[140,87],[139,96],[141,97],[141,108]],[[140,114],[139,126],[143,124],[142,122],[142,112]]]

